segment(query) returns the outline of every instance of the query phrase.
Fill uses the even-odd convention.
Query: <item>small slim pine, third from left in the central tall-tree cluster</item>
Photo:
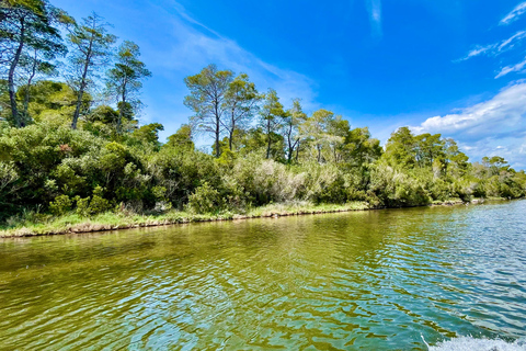
[[[266,158],[268,159],[271,158],[273,134],[276,134],[282,127],[285,111],[274,89],[268,89],[264,98],[263,107],[260,112],[260,125],[266,134]]]

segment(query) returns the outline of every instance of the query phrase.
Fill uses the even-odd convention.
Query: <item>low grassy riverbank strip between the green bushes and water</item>
[[[474,199],[470,203],[479,204],[485,201],[503,200],[505,199]],[[453,199],[445,202],[434,202],[424,206],[451,206],[462,204],[465,204],[465,202],[462,202],[460,199]],[[374,207],[366,202],[351,202],[343,205],[315,205],[311,203],[298,202],[293,204],[271,204],[262,207],[255,207],[249,210],[245,214],[237,214],[231,212],[222,212],[217,214],[194,214],[190,212],[169,211],[162,214],[139,215],[107,212],[87,218],[72,213],[60,217],[44,218],[43,220],[38,222],[25,219],[19,223],[12,223],[11,225],[8,224],[0,229],[0,238],[108,231],[198,222],[239,220],[264,217],[277,218],[283,216],[313,215],[367,210],[380,208]]]

